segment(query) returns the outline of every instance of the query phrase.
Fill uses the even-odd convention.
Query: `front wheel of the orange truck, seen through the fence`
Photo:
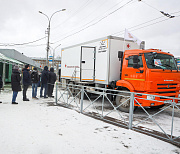
[[[116,96],[116,105],[119,106],[118,109],[122,112],[126,112],[129,113],[129,108],[130,108],[130,99],[127,96],[130,96],[129,93],[119,93],[119,95],[122,96]],[[128,100],[129,99],[129,100]],[[125,102],[126,100],[128,100],[127,102]],[[124,103],[125,102],[125,103]],[[134,106],[134,110],[137,109],[137,106]]]

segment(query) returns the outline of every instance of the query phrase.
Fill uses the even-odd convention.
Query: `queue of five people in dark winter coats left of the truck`
[[[56,74],[54,73],[54,68],[50,68],[50,71],[48,71],[48,67],[45,66],[40,76],[36,67],[33,68],[32,72],[30,72],[29,67],[30,67],[29,64],[27,64],[25,65],[25,68],[22,69],[23,101],[29,101],[26,93],[30,85],[32,85],[32,98],[38,99],[37,87],[39,81],[41,83],[40,97],[44,97],[44,98],[54,97],[52,93],[54,89],[54,83],[56,82],[57,79]],[[11,87],[13,91],[12,104],[18,104],[16,102],[16,97],[18,92],[21,91],[21,73],[19,72],[19,67],[17,65],[14,66],[12,71]],[[44,95],[43,95],[43,89],[44,89]]]

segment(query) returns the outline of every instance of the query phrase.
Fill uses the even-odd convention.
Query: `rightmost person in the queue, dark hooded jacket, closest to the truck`
[[[48,97],[54,97],[52,93],[54,89],[54,83],[56,82],[56,80],[57,78],[56,78],[56,74],[54,73],[54,68],[51,67],[49,72],[49,81],[48,81]]]

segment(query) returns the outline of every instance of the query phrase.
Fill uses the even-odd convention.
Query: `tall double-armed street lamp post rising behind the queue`
[[[48,19],[48,28],[47,28],[47,32],[48,32],[48,39],[47,39],[47,57],[46,57],[46,66],[48,66],[48,54],[49,54],[49,38],[50,38],[50,25],[51,25],[51,19],[52,19],[52,17],[54,16],[54,14],[56,14],[56,13],[58,13],[58,12],[61,12],[61,11],[65,11],[66,9],[62,9],[62,10],[59,10],[59,11],[56,11],[56,12],[54,12],[51,16],[50,16],[50,18],[46,15],[46,14],[44,14],[43,12],[41,12],[41,11],[39,11],[39,13],[41,13],[41,14],[43,14],[44,16],[46,16],[47,17],[47,19]]]

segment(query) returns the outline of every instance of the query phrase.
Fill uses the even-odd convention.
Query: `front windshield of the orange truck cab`
[[[145,53],[144,55],[148,68],[177,70],[173,56],[160,53]]]

